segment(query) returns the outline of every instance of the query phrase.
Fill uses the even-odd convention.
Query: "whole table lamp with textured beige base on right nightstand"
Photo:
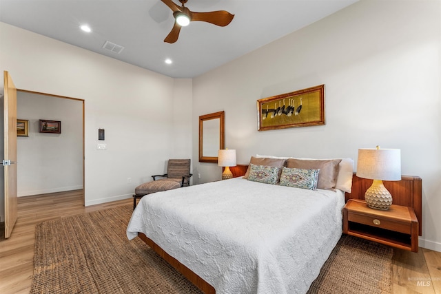
[[[392,196],[384,187],[383,180],[401,180],[400,149],[358,149],[357,176],[370,178],[373,183],[365,193],[368,207],[387,210]]]

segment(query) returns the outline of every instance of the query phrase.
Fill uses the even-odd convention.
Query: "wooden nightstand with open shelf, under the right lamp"
[[[378,210],[350,199],[343,208],[343,233],[418,252],[418,219],[411,207],[392,204]]]

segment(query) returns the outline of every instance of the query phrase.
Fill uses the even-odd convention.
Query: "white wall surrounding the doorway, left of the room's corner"
[[[85,101],[86,205],[130,198],[134,187],[165,171],[168,158],[191,158],[191,80],[175,80],[6,23],[0,23],[0,52],[0,70],[10,73],[17,88]],[[181,106],[189,113],[179,112]],[[100,127],[105,141],[98,140]],[[98,143],[107,144],[107,150],[97,150]]]

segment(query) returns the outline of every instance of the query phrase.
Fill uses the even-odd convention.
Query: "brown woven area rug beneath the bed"
[[[30,293],[201,293],[141,239],[127,240],[132,205],[37,225]],[[343,236],[309,293],[389,293],[387,246]]]

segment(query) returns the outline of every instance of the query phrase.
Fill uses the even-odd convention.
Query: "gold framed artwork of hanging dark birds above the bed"
[[[325,85],[257,101],[258,130],[325,125]]]

